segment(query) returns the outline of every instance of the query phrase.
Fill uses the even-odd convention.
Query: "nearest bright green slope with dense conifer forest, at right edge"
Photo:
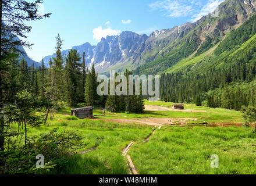
[[[256,15],[214,48],[162,74],[161,98],[239,110],[255,105]]]

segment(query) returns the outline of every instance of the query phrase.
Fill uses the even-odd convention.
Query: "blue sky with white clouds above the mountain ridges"
[[[97,45],[106,35],[133,31],[150,35],[154,30],[195,22],[213,12],[224,0],[44,0],[40,15],[51,17],[27,25],[31,49],[27,55],[37,62],[55,52],[56,36],[61,35],[62,49],[89,42]],[[24,40],[24,38],[22,38]]]

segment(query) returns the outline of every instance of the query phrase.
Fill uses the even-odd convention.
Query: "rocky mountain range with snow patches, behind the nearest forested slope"
[[[95,70],[100,74],[125,69],[136,74],[172,72],[195,58],[193,65],[199,65],[202,58],[210,56],[230,32],[239,28],[255,12],[256,0],[226,0],[214,12],[195,23],[156,30],[149,36],[123,31],[119,35],[102,38],[97,46],[86,42],[72,49],[76,49],[81,56],[85,52],[87,67],[90,69],[94,63]],[[62,54],[65,56],[69,51],[62,51]],[[46,66],[52,57],[54,55],[43,58]]]

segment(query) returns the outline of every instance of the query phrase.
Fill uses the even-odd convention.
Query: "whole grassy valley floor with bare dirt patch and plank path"
[[[68,116],[70,109],[62,109],[47,126],[29,128],[28,134],[58,128],[83,135],[86,145],[73,152],[58,174],[256,174],[256,135],[252,127],[242,126],[240,112],[145,104],[144,114],[104,116],[94,110],[95,119],[74,119]],[[211,168],[212,155],[218,155],[218,169]]]

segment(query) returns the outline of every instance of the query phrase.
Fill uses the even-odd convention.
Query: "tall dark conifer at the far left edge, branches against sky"
[[[31,26],[26,26],[25,23],[31,20],[40,20],[44,17],[49,17],[51,13],[38,15],[38,5],[42,0],[27,2],[24,0],[1,0],[0,1],[0,113],[2,113],[3,105],[8,96],[6,89],[6,74],[9,69],[9,63],[6,62],[14,53],[20,53],[20,46],[30,47],[26,41],[17,41],[16,36],[26,38],[24,33],[31,31]],[[12,34],[10,34],[12,33]],[[4,151],[5,141],[5,121],[2,114],[0,115],[0,151]]]

